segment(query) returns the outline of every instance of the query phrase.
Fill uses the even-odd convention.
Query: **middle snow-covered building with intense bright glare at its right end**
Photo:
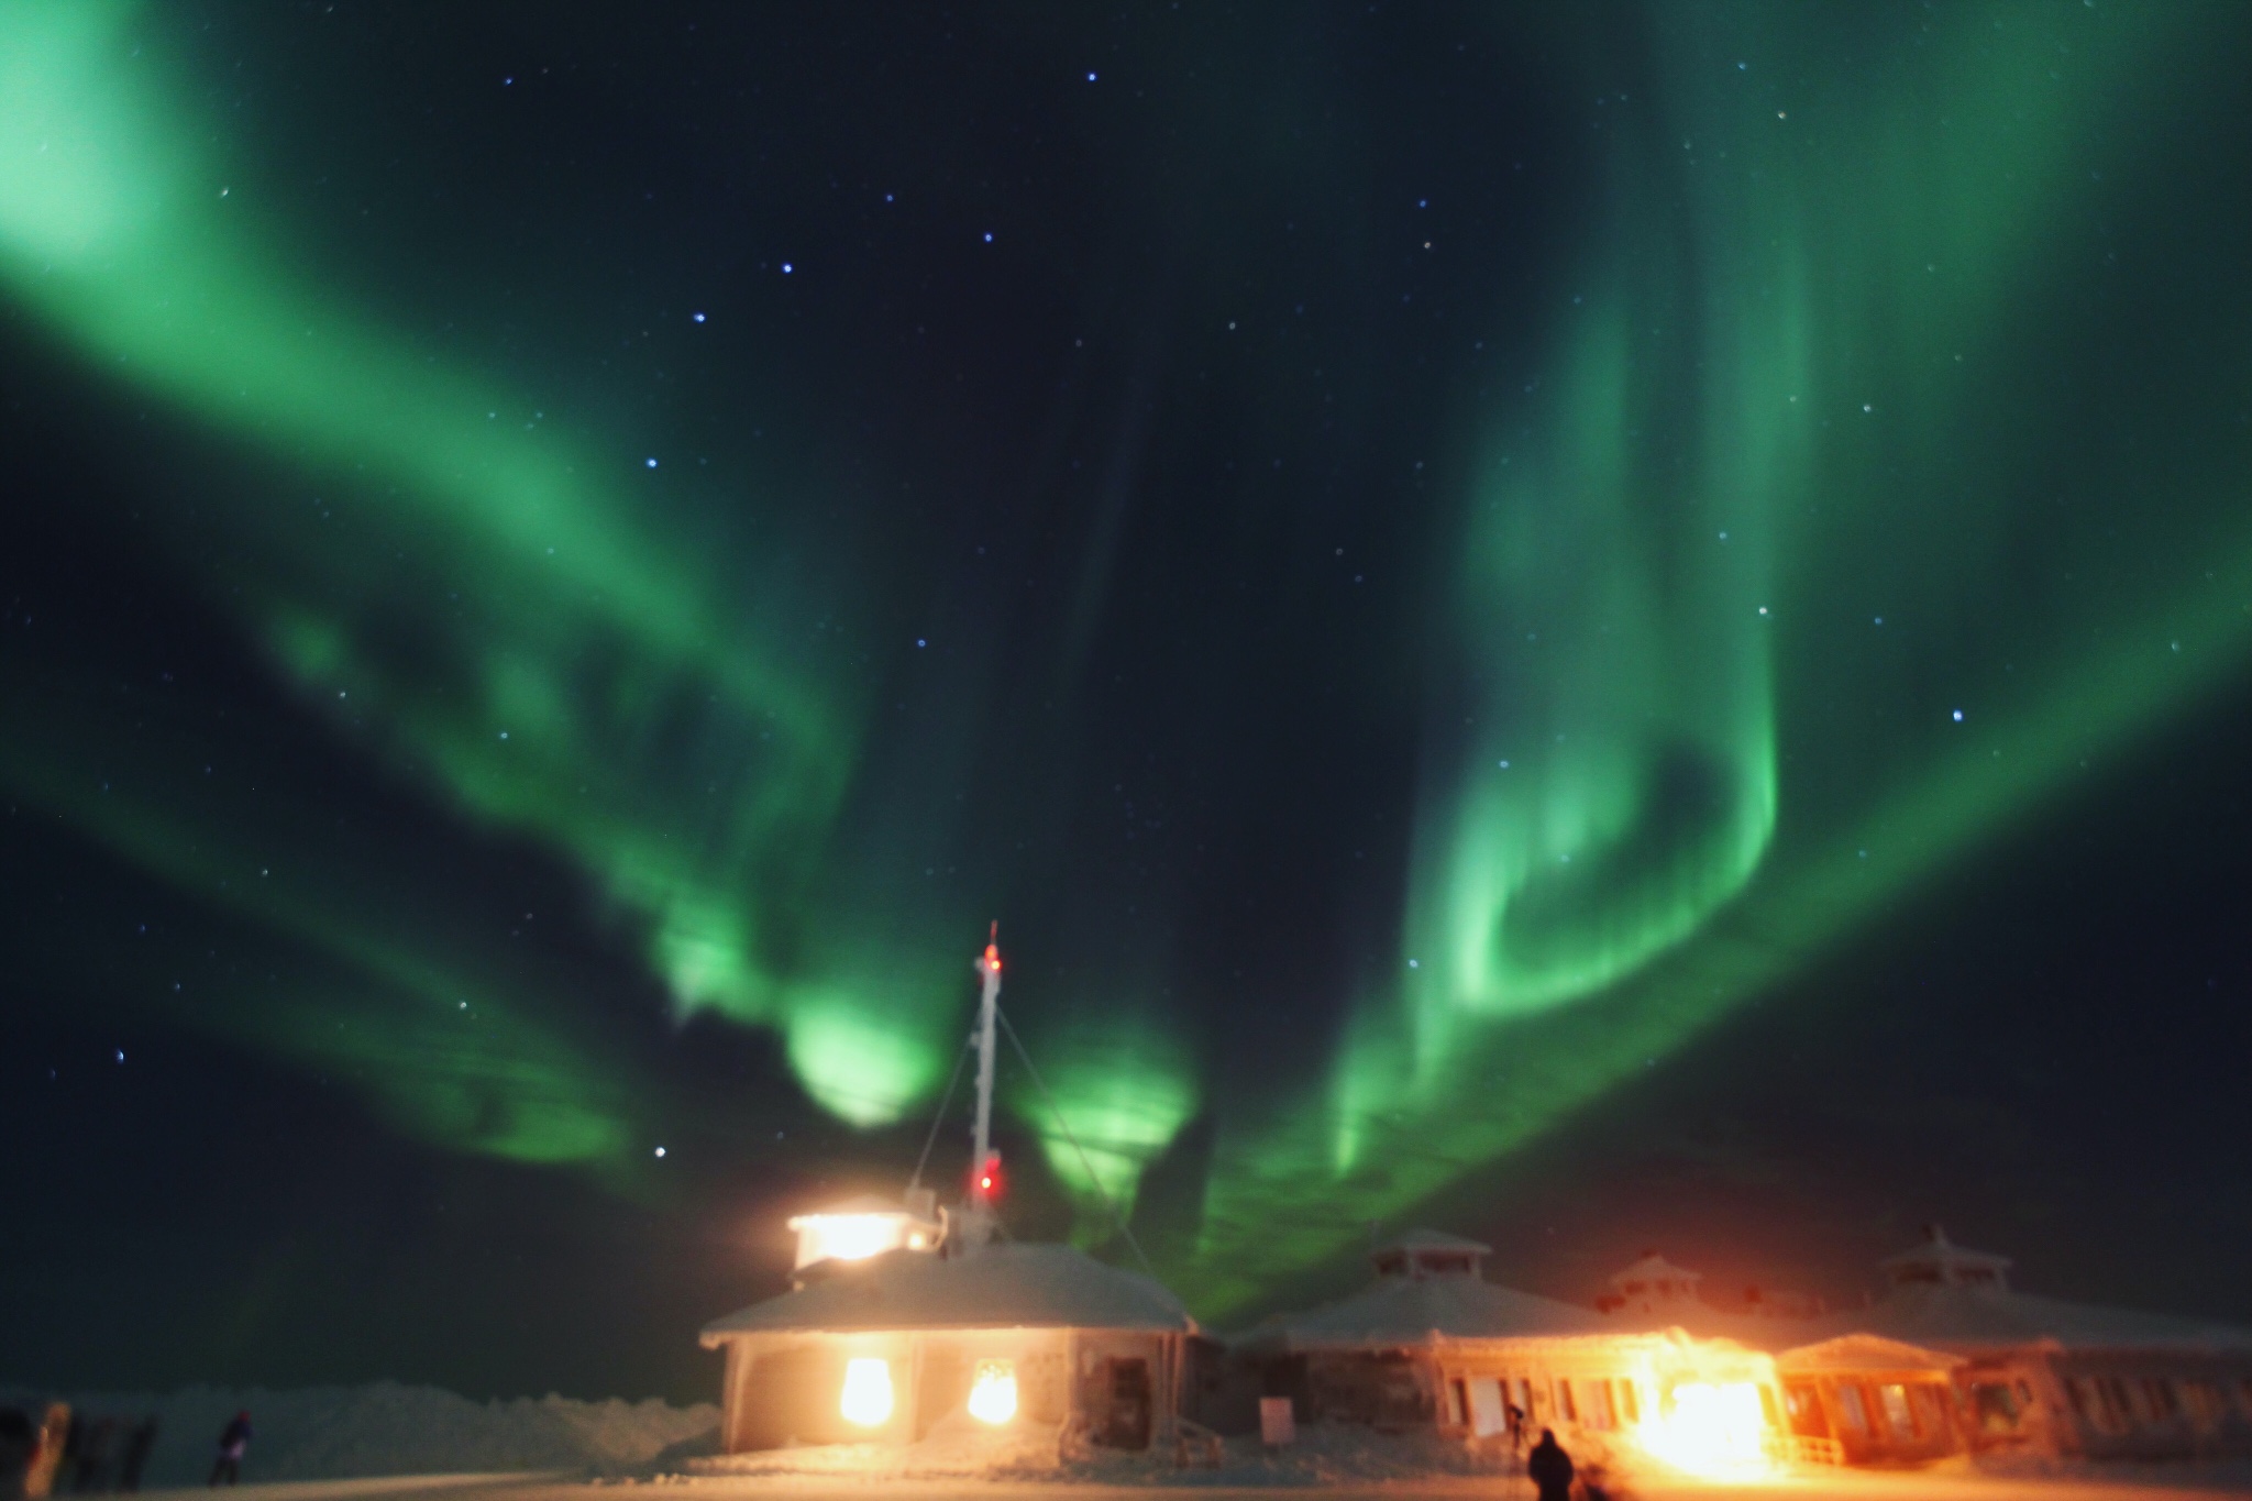
[[[1775,1361],[1725,1339],[1621,1330],[1588,1307],[1484,1280],[1489,1247],[1410,1231],[1376,1280],[1236,1343],[1268,1395],[1308,1422],[1486,1438],[1554,1427],[1691,1460],[1759,1458],[1781,1440]]]

